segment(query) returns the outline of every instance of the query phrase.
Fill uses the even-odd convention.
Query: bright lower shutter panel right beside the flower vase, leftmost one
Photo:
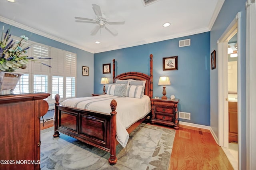
[[[23,74],[20,77],[14,91],[14,94],[29,93],[29,75]]]

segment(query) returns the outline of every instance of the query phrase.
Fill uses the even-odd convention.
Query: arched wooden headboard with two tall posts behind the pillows
[[[139,72],[127,72],[127,73],[122,73],[120,75],[115,76],[115,65],[116,65],[115,62],[116,60],[113,59],[113,67],[112,67],[113,83],[116,82],[116,79],[146,80],[144,95],[148,95],[150,99],[153,97],[153,55],[152,54],[150,54],[150,75],[146,75],[144,73],[139,73]]]

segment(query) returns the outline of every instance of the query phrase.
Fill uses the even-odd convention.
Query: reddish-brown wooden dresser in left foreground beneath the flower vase
[[[40,117],[49,93],[0,95],[0,169],[40,169]]]

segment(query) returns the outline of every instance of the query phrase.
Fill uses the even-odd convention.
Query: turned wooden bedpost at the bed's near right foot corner
[[[114,165],[117,162],[116,158],[116,101],[113,99],[110,103],[112,112],[111,114],[111,132],[110,132],[110,157],[108,162],[110,165]]]

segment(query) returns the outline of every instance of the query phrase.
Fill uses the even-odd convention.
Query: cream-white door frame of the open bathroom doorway
[[[237,33],[238,43],[238,169],[241,165],[241,57],[240,27],[241,12],[236,14],[225,32],[218,40],[218,141],[219,145],[228,148],[228,41]]]

